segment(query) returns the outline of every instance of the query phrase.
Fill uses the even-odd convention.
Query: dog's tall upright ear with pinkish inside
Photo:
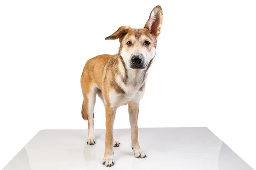
[[[161,6],[156,6],[151,11],[149,19],[145,24],[144,28],[147,28],[150,34],[158,37],[161,31],[161,26],[163,24],[163,11]]]

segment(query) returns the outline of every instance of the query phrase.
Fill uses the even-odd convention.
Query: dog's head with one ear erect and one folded
[[[163,23],[163,12],[160,6],[154,7],[143,29],[121,26],[105,40],[119,38],[119,54],[128,67],[144,69],[156,54],[157,37]]]

